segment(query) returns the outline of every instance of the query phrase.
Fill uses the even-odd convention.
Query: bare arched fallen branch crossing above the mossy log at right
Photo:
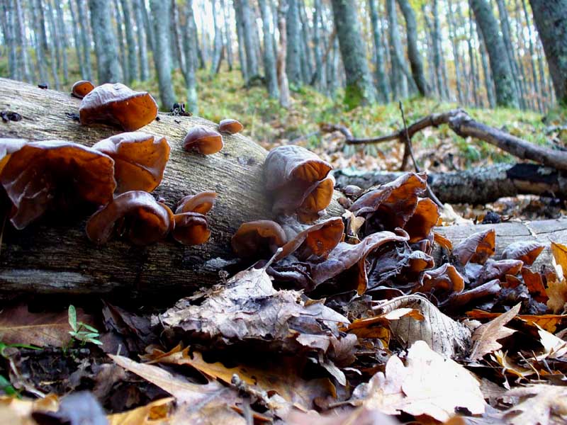
[[[555,169],[567,170],[567,152],[549,149],[534,145],[519,137],[512,136],[507,132],[498,130],[488,125],[478,123],[473,120],[466,111],[462,109],[454,109],[446,113],[434,113],[412,123],[407,129],[408,137],[413,137],[415,133],[420,132],[428,127],[439,127],[439,125],[448,124],[449,128],[461,137],[473,137],[478,140],[490,143],[503,149],[515,157],[520,159],[529,159],[531,161],[550,166]],[[345,134],[343,132],[343,134]],[[345,134],[346,136],[346,134]],[[373,137],[369,139],[355,139],[347,137],[347,145],[360,145],[367,143],[383,143],[398,140],[404,142],[405,130],[401,129],[391,135],[382,137]]]

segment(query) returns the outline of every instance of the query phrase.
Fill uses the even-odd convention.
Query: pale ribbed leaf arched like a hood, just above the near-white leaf
[[[425,341],[433,351],[445,358],[464,357],[470,349],[471,331],[419,295],[396,297],[379,305],[377,313],[386,313],[400,308],[410,308],[422,314],[422,320],[411,316],[391,322],[392,337],[403,347],[415,341]]]

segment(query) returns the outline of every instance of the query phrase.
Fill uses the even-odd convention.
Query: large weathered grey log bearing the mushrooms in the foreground
[[[78,106],[79,101],[66,94],[0,79],[0,110],[23,116],[20,121],[0,123],[0,137],[58,138],[93,145],[119,132],[104,125],[80,125],[73,118]],[[263,191],[266,151],[247,137],[233,135],[225,137],[225,148],[218,154],[189,154],[181,148],[181,140],[196,124],[215,128],[214,123],[202,118],[160,113],[159,121],[144,130],[166,136],[172,145],[157,195],[174,205],[189,193],[211,189],[218,192],[218,202],[208,214],[212,230],[209,242],[182,246],[166,241],[137,247],[113,240],[94,246],[84,232],[86,217],[62,217],[57,223],[42,220],[21,231],[6,222],[0,246],[0,297],[21,293],[112,293],[113,300],[143,297],[157,302],[160,297],[177,300],[224,278],[223,267],[234,260],[230,237],[237,227],[242,222],[271,217]],[[335,216],[344,212],[335,201],[327,210]],[[498,233],[499,226],[495,226]],[[554,226],[558,237],[567,240],[567,220],[549,225]],[[441,232],[452,232],[449,229]],[[474,231],[475,227],[456,230],[461,236]],[[550,234],[546,231],[545,236]],[[505,239],[506,243],[511,239]],[[524,239],[523,233],[517,238]],[[500,239],[497,242],[502,246]]]

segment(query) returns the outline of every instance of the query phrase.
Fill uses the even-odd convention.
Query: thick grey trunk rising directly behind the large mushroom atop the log
[[[111,24],[111,8],[109,6],[109,0],[89,0],[99,84],[120,81],[118,48],[114,38],[114,30]]]

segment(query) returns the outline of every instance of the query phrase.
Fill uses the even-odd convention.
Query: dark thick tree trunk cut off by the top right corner
[[[558,103],[567,106],[567,2],[529,0]]]

